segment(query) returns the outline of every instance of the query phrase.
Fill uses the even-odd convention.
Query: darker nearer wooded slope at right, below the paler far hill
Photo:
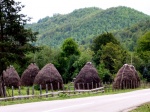
[[[148,31],[150,31],[150,20],[145,20],[130,28],[115,32],[114,35],[124,47],[130,51],[134,51],[138,38]]]

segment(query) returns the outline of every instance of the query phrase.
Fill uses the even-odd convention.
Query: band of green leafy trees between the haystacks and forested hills
[[[112,81],[125,63],[134,65],[140,77],[149,81],[149,37],[149,32],[144,34],[134,52],[124,49],[113,34],[107,32],[93,38],[88,48],[79,46],[73,38],[67,38],[60,48],[43,46],[40,51],[27,54],[27,57],[40,68],[48,62],[53,63],[65,83],[72,81],[88,61],[95,65],[103,82]]]

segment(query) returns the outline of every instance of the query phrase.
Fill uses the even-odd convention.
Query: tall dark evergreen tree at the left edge
[[[0,75],[2,82],[2,72],[7,66],[12,63],[23,66],[27,62],[25,53],[37,49],[32,45],[37,33],[24,28],[30,18],[20,14],[23,7],[21,2],[14,0],[0,1]],[[3,89],[0,88],[0,90]]]

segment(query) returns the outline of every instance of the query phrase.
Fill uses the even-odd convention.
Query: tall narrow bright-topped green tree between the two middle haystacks
[[[62,52],[58,59],[56,67],[62,74],[65,83],[72,81],[72,76],[75,71],[73,64],[80,56],[78,44],[72,39],[67,38],[62,45]]]

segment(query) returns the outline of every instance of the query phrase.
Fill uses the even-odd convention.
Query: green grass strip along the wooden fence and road
[[[26,87],[23,88],[22,94],[26,95]],[[138,89],[126,89],[126,90],[112,90],[107,89],[104,93],[76,93],[74,95],[72,94],[59,94],[59,96],[48,96],[46,98],[45,96],[41,97],[35,97],[35,98],[28,98],[28,99],[18,99],[18,100],[10,100],[10,101],[1,101],[0,106],[6,106],[6,105],[12,105],[12,104],[22,104],[22,103],[31,103],[31,102],[40,102],[40,101],[52,101],[52,100],[65,100],[65,99],[72,99],[72,98],[83,98],[83,97],[92,97],[92,96],[101,96],[101,95],[109,95],[109,94],[118,94],[118,93],[124,93],[124,92],[130,92]],[[45,93],[45,90],[42,91],[42,93]],[[35,91],[36,95],[39,95],[39,90]],[[14,95],[18,95],[18,90],[14,90]]]

